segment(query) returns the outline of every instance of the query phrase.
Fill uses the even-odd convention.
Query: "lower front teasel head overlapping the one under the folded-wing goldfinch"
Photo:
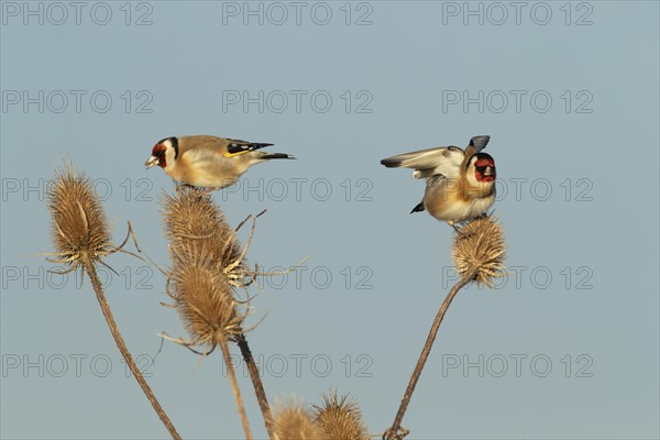
[[[218,270],[210,254],[195,246],[175,251],[169,296],[175,300],[191,345],[218,345],[241,331],[245,314],[238,310],[230,279]]]

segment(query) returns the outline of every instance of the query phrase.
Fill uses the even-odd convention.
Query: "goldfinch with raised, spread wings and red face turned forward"
[[[388,168],[413,168],[415,178],[426,178],[424,199],[413,212],[425,209],[438,220],[454,223],[472,220],[495,202],[495,161],[481,153],[491,136],[474,136],[463,151],[439,146],[399,154],[381,161]]]

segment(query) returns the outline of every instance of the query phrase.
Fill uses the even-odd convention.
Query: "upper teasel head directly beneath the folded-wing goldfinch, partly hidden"
[[[162,204],[165,237],[175,254],[177,249],[193,246],[208,253],[232,279],[246,275],[237,233],[208,191],[179,186],[175,195],[165,195]]]

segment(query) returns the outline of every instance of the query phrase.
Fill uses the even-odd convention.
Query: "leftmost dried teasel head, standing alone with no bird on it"
[[[114,250],[110,228],[101,202],[94,193],[89,177],[74,169],[69,162],[55,170],[48,187],[48,211],[53,218],[55,263],[75,270],[85,262],[95,262]]]

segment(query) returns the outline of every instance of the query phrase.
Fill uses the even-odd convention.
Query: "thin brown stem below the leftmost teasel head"
[[[94,287],[94,292],[97,295],[97,299],[99,300],[99,305],[101,306],[101,310],[103,311],[103,317],[106,317],[106,322],[108,322],[108,327],[110,328],[110,332],[112,333],[112,338],[114,338],[114,342],[117,343],[121,355],[127,361],[127,365],[129,365],[129,367],[131,369],[133,376],[140,384],[140,387],[144,392],[144,395],[146,396],[148,402],[154,407],[156,414],[161,418],[161,421],[163,421],[163,425],[165,425],[165,427],[169,431],[172,438],[174,440],[180,440],[182,437],[176,431],[176,428],[172,424],[172,420],[169,420],[169,417],[167,417],[167,414],[165,413],[158,400],[156,399],[156,396],[154,396],[154,393],[151,391],[148,384],[144,380],[144,376],[140,372],[140,369],[138,369],[135,361],[133,361],[133,356],[131,356],[131,353],[129,352],[129,349],[127,348],[127,344],[123,338],[121,337],[121,333],[119,332],[117,322],[114,321],[112,311],[110,310],[110,306],[108,305],[108,300],[106,300],[106,295],[103,294],[103,288],[101,287],[101,283],[99,280],[99,276],[96,272],[94,263],[87,260],[84,264],[85,270],[89,274],[89,279],[91,279],[91,285]]]

